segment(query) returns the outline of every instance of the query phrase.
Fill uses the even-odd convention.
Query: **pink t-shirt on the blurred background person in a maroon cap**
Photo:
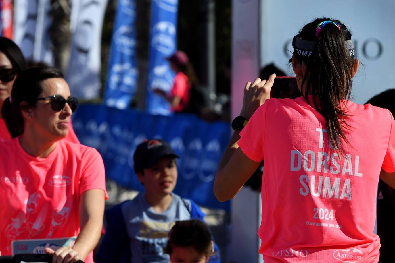
[[[188,77],[182,72],[177,73],[174,77],[173,89],[170,91],[169,95],[170,97],[180,97],[181,101],[180,104],[171,108],[173,112],[180,112],[186,109],[189,102],[190,89],[191,84]]]

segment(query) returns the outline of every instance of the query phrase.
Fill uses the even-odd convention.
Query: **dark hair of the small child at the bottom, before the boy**
[[[211,233],[206,224],[197,219],[175,222],[169,232],[166,253],[171,255],[173,248],[177,246],[192,246],[199,254],[205,256],[214,254]]]

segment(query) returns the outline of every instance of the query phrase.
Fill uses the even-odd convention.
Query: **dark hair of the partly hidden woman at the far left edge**
[[[0,52],[3,52],[12,64],[12,67],[21,73],[27,69],[26,60],[21,49],[11,39],[0,37]]]

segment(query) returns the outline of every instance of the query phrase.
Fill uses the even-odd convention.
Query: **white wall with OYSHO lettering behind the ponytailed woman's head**
[[[288,63],[292,37],[304,24],[324,16],[340,20],[353,33],[356,57],[364,65],[354,78],[354,101],[365,103],[381,91],[395,88],[393,0],[262,0],[261,66],[275,62],[293,74]],[[284,47],[291,52],[285,55]]]

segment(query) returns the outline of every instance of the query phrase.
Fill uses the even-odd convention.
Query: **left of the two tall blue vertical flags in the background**
[[[127,108],[136,92],[138,70],[135,20],[135,0],[119,0],[104,96],[107,106]]]

